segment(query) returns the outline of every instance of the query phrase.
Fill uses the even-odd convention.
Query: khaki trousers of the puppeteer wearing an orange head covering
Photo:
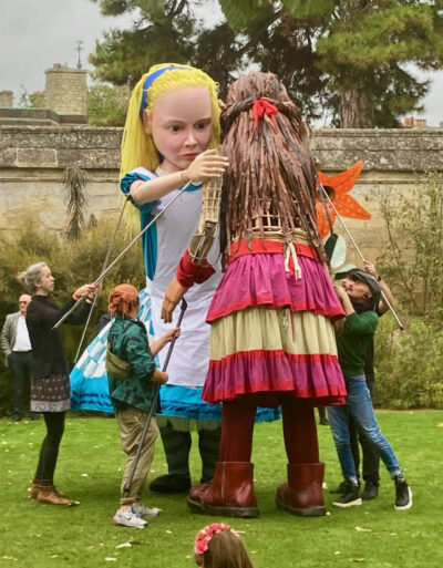
[[[123,452],[127,455],[121,486],[120,503],[122,505],[130,505],[131,503],[140,502],[142,498],[143,487],[154,457],[155,440],[158,435],[158,428],[155,419],[153,417],[134,472],[131,489],[126,493],[123,487],[130,476],[131,466],[135,458],[138,441],[145,425],[147,414],[135,406],[128,406],[125,410],[117,411],[116,419],[120,430],[120,443]]]

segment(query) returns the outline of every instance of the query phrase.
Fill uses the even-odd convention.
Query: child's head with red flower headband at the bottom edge
[[[197,534],[194,558],[202,568],[253,568],[240,536],[224,523],[213,523]]]

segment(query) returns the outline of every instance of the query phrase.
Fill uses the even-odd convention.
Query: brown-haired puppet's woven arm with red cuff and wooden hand
[[[205,282],[215,269],[206,260],[217,230],[220,207],[222,179],[210,179],[203,186],[202,215],[198,233],[190,239],[177,272],[166,289],[162,306],[162,319],[167,323],[177,303],[194,283]]]

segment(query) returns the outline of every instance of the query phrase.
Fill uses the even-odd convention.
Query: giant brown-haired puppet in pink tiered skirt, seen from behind
[[[210,362],[203,390],[206,402],[223,402],[222,440],[213,482],[192,487],[188,505],[208,515],[258,515],[254,414],[258,404],[281,404],[289,463],[276,503],[296,515],[324,515],[313,407],[344,401],[332,326],[343,311],[316,224],[307,127],[270,73],[230,86],[222,127],[222,154],[229,159],[219,221],[226,271],[207,314]],[[203,265],[190,246],[166,291],[165,321],[202,280]]]

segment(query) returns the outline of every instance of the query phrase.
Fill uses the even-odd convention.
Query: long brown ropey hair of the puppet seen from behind
[[[254,101],[265,99],[278,113],[259,121]],[[220,210],[224,264],[236,237],[281,233],[284,247],[292,231],[307,234],[320,261],[327,261],[316,221],[317,169],[308,149],[309,131],[285,85],[272,73],[250,73],[229,89],[222,112],[222,153],[229,158]]]

